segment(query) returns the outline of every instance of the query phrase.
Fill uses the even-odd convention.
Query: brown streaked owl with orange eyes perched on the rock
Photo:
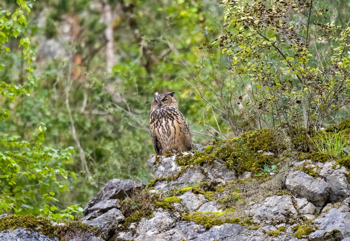
[[[191,134],[187,120],[179,110],[175,92],[155,92],[149,112],[149,127],[157,154],[162,151],[192,150]]]

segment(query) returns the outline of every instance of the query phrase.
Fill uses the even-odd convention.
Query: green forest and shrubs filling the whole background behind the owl
[[[249,22],[262,2],[281,8]],[[345,119],[350,1],[277,2],[1,1],[1,211],[73,219],[110,179],[152,180],[155,91],[176,92],[194,143]],[[258,36],[261,26],[247,43],[229,32]],[[257,39],[268,41],[251,52]],[[336,94],[318,96],[323,84]]]

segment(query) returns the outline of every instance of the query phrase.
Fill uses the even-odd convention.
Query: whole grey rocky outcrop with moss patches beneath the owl
[[[221,159],[178,166],[176,157],[148,159],[156,178],[148,187],[131,180],[106,183],[80,220],[100,235],[81,232],[80,240],[350,240],[345,167],[291,158],[260,177],[231,171]],[[58,241],[23,228],[9,231],[0,233],[1,241]]]

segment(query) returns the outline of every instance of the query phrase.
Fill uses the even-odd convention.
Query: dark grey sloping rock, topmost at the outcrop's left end
[[[86,216],[89,213],[89,208],[99,202],[109,199],[123,199],[126,196],[131,196],[134,189],[143,189],[145,187],[146,185],[144,183],[135,182],[130,179],[112,179],[89,201],[89,204],[83,210],[83,214]]]

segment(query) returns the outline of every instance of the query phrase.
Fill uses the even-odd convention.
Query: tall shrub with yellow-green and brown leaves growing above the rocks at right
[[[236,135],[240,118],[255,128],[286,122],[308,133],[330,116],[343,115],[339,110],[349,104],[350,29],[328,22],[336,11],[329,5],[222,1],[227,9],[223,34],[199,49],[221,50],[230,60],[230,71],[219,76],[221,82],[197,78],[194,86]]]

